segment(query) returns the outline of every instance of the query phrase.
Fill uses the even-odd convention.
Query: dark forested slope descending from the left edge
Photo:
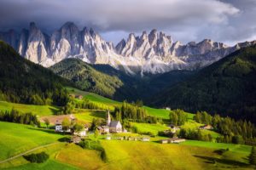
[[[35,105],[65,105],[63,86],[72,85],[41,65],[24,59],[0,41],[0,100]]]

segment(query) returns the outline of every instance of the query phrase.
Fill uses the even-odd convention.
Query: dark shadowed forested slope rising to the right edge
[[[207,66],[151,99],[151,105],[256,120],[256,46]]]

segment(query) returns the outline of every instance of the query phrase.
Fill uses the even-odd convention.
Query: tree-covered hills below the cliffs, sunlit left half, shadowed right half
[[[164,74],[131,77],[110,65],[90,65],[80,59],[64,59],[49,69],[71,80],[84,91],[119,101],[143,99],[145,102],[167,85],[181,82],[194,74],[192,71],[170,71]]]

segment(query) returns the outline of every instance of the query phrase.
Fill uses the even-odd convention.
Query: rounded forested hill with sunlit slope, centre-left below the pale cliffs
[[[131,87],[135,80],[109,65],[90,65],[80,59],[64,59],[49,69],[84,91],[120,100],[137,96]]]

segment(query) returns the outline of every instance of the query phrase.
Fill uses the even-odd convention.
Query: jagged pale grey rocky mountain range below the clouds
[[[82,31],[67,22],[49,37],[35,23],[20,33],[0,32],[0,39],[8,42],[20,55],[35,63],[50,66],[66,58],[79,58],[91,64],[107,64],[129,74],[163,73],[172,70],[193,70],[210,65],[239,48],[253,45],[242,42],[228,47],[206,39],[202,42],[173,42],[163,32],[143,31],[140,37],[130,34],[116,47],[106,42],[92,29]]]

